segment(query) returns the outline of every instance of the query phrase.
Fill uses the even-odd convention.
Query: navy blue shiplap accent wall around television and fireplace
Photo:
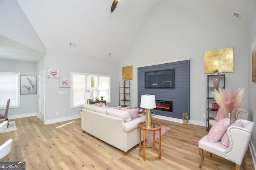
[[[145,88],[145,72],[174,68],[174,89]],[[156,100],[172,101],[172,112],[152,109],[155,114],[182,119],[184,112],[190,119],[190,60],[138,68],[138,106],[142,94],[153,94]]]

